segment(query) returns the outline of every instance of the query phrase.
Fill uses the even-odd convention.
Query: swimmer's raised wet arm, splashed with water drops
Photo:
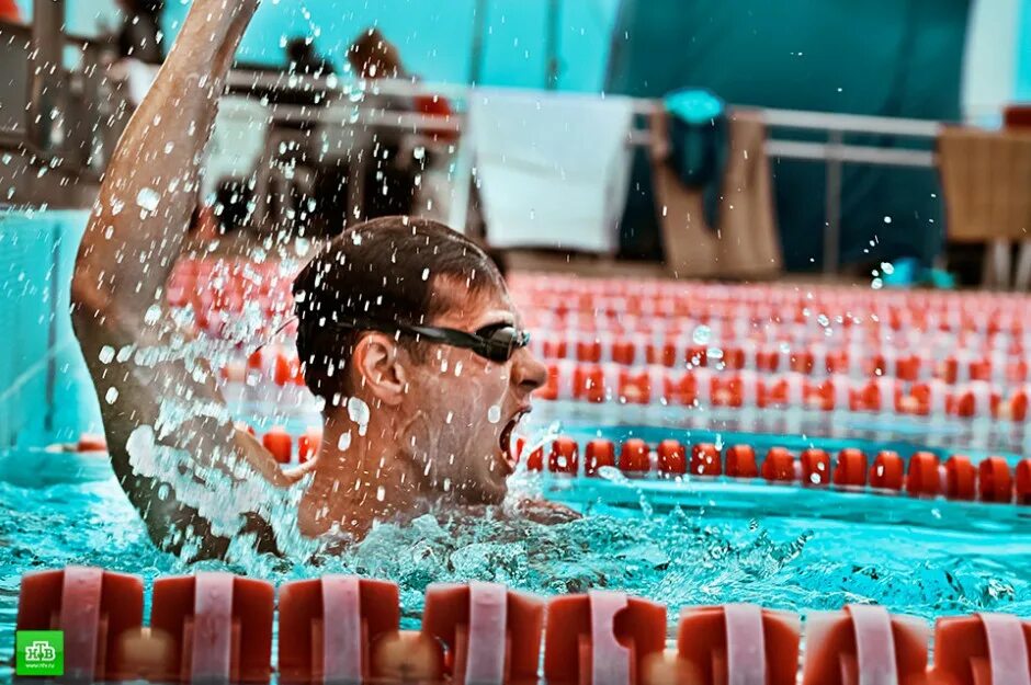
[[[191,480],[205,480],[204,469],[225,473],[243,457],[283,484],[261,446],[233,427],[206,362],[184,352],[186,336],[163,295],[196,206],[217,101],[258,1],[194,0],[109,164],[71,287],[76,334],[122,487],[156,543],[178,548],[183,540],[174,533],[192,529],[206,540],[207,555],[219,553],[225,539],[212,535],[214,517],[204,510],[222,503],[174,490],[170,496],[162,482],[179,476],[186,491]],[[175,415],[185,419],[170,419]],[[194,461],[184,467],[155,458],[167,452],[162,447]]]

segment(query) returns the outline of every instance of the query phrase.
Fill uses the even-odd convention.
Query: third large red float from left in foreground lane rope
[[[397,585],[344,575],[284,584],[279,613],[284,683],[359,683],[382,676],[373,647],[397,632],[400,621]]]

